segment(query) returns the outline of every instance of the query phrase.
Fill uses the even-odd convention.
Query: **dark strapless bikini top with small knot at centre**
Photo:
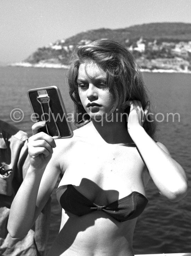
[[[77,216],[103,211],[117,221],[125,221],[138,217],[146,207],[148,199],[137,191],[107,205],[97,205],[77,191],[73,185],[63,185],[56,189],[61,207]]]

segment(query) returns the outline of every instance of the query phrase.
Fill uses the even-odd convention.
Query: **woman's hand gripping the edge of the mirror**
[[[33,136],[28,139],[28,155],[30,158],[30,166],[32,170],[43,170],[50,161],[53,148],[56,143],[48,134],[39,132],[39,129],[45,126],[45,122],[41,121],[32,126]]]

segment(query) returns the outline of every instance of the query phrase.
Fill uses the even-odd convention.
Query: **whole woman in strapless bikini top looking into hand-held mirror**
[[[48,255],[132,256],[150,177],[176,202],[186,194],[184,170],[153,140],[146,89],[124,46],[109,40],[78,46],[68,81],[80,128],[73,138],[54,141],[38,133],[44,122],[33,125],[30,168],[11,206],[9,233],[28,232],[63,174],[60,232]]]

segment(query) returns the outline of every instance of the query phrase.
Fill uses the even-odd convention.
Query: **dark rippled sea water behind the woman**
[[[148,183],[149,203],[136,224],[134,253],[191,253],[191,74],[144,72],[143,78],[151,112],[156,114],[157,141],[164,143],[184,168],[189,190],[184,199],[172,203],[159,194],[152,181]],[[27,91],[51,85],[60,89],[66,110],[72,113],[66,69],[0,67],[0,119],[31,136],[34,122]],[[60,217],[61,208],[53,191],[48,248],[59,231]]]

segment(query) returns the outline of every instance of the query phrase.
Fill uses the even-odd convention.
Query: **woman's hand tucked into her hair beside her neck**
[[[127,122],[128,131],[135,129],[136,127],[142,127],[146,120],[146,116],[149,113],[150,101],[147,101],[144,110],[139,100],[128,100],[125,105],[130,106],[130,113]]]

